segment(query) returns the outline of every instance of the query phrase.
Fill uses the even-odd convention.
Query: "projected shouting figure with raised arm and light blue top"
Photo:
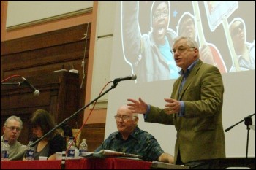
[[[176,33],[168,28],[169,1],[154,1],[151,31],[141,35],[138,1],[122,1],[121,36],[124,58],[132,64],[138,82],[178,78],[178,67],[171,53]]]

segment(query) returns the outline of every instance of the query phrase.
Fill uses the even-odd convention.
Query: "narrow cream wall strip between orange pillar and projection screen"
[[[110,81],[110,64],[113,54],[113,31],[115,26],[116,1],[99,1],[97,31],[94,49],[94,69],[91,84],[91,101]],[[108,87],[106,87],[108,89]],[[105,89],[105,90],[106,90]],[[95,108],[107,108],[108,93],[99,98]]]

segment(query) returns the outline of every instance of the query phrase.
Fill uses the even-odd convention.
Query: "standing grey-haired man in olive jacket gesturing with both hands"
[[[165,109],[146,104],[141,98],[129,98],[132,112],[145,114],[145,121],[175,125],[176,164],[190,169],[218,169],[225,158],[225,135],[222,126],[224,86],[217,67],[203,63],[195,40],[179,37],[173,45],[174,58],[181,67],[181,77]]]

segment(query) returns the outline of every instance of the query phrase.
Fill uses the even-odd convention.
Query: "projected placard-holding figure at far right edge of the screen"
[[[255,40],[246,42],[244,20],[234,18],[230,22],[230,35],[241,71],[255,69]],[[236,67],[232,66],[230,72],[236,72]]]

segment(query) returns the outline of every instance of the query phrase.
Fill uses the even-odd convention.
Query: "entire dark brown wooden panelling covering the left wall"
[[[13,87],[9,94],[11,98],[3,97],[1,93],[1,126],[7,117],[11,114],[20,115],[24,121],[24,125],[27,125],[27,120],[36,109],[47,109],[50,112],[57,113],[55,115],[57,120],[63,120],[65,117],[59,113],[69,112],[69,114],[75,111],[67,109],[74,107],[67,101],[61,101],[61,98],[69,97],[69,101],[75,101],[73,103],[78,104],[78,109],[83,107],[85,101],[86,91],[86,77],[83,82],[83,88],[80,89],[80,84],[83,79],[83,68],[81,62],[83,61],[84,48],[86,45],[86,58],[85,58],[85,74],[87,71],[88,57],[89,57],[89,42],[91,35],[91,23],[89,23],[89,31],[86,39],[81,40],[86,32],[87,24],[75,26],[72,28],[64,28],[58,31],[51,31],[44,34],[38,34],[34,36],[27,36],[20,39],[13,39],[6,42],[1,42],[1,80],[10,77],[13,74],[19,74],[26,77],[38,90],[40,90],[40,101],[38,98],[31,97],[31,89],[23,87],[18,90],[17,87]],[[79,72],[78,82],[76,86],[72,83],[67,85],[52,83],[50,86],[43,85],[40,82],[42,77],[50,77],[55,70],[62,69],[77,69]],[[73,80],[70,80],[72,82]],[[78,99],[75,99],[74,93],[67,91],[59,95],[59,90],[69,88],[78,90],[75,95]],[[2,85],[1,85],[2,89]],[[13,91],[13,92],[12,92]],[[21,100],[20,94],[23,96]],[[33,95],[32,95],[33,96]],[[47,96],[47,97],[46,97]],[[2,100],[2,98],[5,98]],[[42,100],[45,98],[45,100]],[[13,103],[12,101],[16,101]],[[12,102],[12,103],[10,103]],[[58,108],[59,102],[67,105],[67,108]],[[8,104],[12,104],[12,109],[7,108]],[[29,105],[29,106],[28,106]],[[83,114],[80,113],[80,122],[83,121]],[[70,123],[73,125],[76,120],[72,120]],[[78,124],[81,125],[81,123]],[[73,127],[72,127],[73,128]],[[21,142],[28,142],[25,136],[30,136],[31,132],[28,128],[23,128],[23,133],[27,134],[20,136]],[[2,131],[1,131],[2,134]],[[23,139],[24,138],[24,139]]]

